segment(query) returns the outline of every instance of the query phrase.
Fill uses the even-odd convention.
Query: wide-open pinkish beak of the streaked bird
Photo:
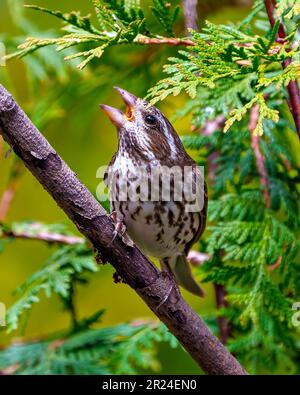
[[[121,127],[126,121],[134,120],[134,109],[138,98],[132,93],[125,91],[125,89],[121,89],[118,87],[115,87],[115,89],[119,92],[124,103],[126,104],[125,113],[105,104],[101,104],[100,107],[114,125],[116,125],[117,127]]]

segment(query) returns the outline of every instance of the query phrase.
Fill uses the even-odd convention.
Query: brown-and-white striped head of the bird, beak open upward
[[[173,126],[161,111],[124,89],[115,89],[126,105],[125,111],[105,104],[100,107],[118,129],[119,151],[144,160],[174,162],[187,155]]]

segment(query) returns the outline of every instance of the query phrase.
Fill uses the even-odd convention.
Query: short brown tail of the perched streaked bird
[[[162,270],[171,271],[176,282],[194,295],[203,297],[203,289],[193,277],[190,265],[185,255],[179,255],[174,258],[164,258],[160,260]]]

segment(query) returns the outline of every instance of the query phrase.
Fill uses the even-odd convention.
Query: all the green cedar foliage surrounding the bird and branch
[[[45,34],[42,38],[28,37],[34,29],[27,24],[23,32],[26,40],[7,58],[24,57],[25,62],[35,65],[37,76],[49,67],[50,57],[54,59],[53,72],[64,73],[66,67],[73,70],[72,62],[63,66],[58,55],[53,58],[54,52],[48,47],[55,46],[58,52],[67,51],[65,60],[81,58],[77,67],[91,67],[96,76],[95,62],[108,47],[143,45],[145,38],[176,38],[180,7],[167,1],[153,0],[152,16],[139,0],[92,3],[96,18],[77,11],[62,13],[29,6],[61,19],[63,32],[55,32],[50,38]],[[208,323],[216,329],[216,319],[226,317],[231,326],[228,347],[250,372],[299,374],[299,329],[292,324],[292,305],[300,298],[300,168],[299,158],[291,149],[299,141],[294,143],[295,127],[286,104],[286,87],[300,75],[297,2],[278,1],[275,19],[272,29],[264,2],[256,0],[252,11],[238,24],[207,21],[200,32],[191,31],[194,46],[173,52],[164,66],[167,77],[149,90],[148,98],[156,103],[169,95],[188,94],[186,105],[176,114],[192,114],[194,133],[183,139],[184,144],[200,165],[214,167],[214,178],[209,183],[208,229],[199,245],[210,259],[197,270],[202,281],[224,286],[228,306],[216,309],[207,317]],[[278,43],[280,22],[287,38]],[[48,52],[40,59],[38,50],[45,47]],[[36,55],[32,56],[33,52]],[[283,68],[287,59],[293,61]],[[80,89],[80,79],[78,84]],[[87,95],[93,91],[92,86],[93,81],[85,85]],[[46,119],[44,111],[32,109],[38,126],[57,117],[59,105],[67,102],[64,95],[74,95],[64,88],[62,92],[58,107]],[[42,101],[41,110],[47,108],[52,94],[49,92]],[[255,108],[257,120],[249,130]],[[211,134],[201,133],[207,122],[219,116],[224,117],[223,129],[218,126]],[[261,184],[253,150],[256,136],[267,186]],[[59,225],[39,226],[47,232],[67,233]],[[4,248],[14,240],[12,233],[27,228],[27,223],[2,225],[0,246]],[[0,351],[0,369],[17,363],[16,373],[23,374],[122,374],[134,373],[137,367],[156,367],[154,344],[168,341],[176,346],[162,325],[126,323],[92,329],[102,310],[77,320],[76,284],[85,282],[87,273],[96,270],[86,243],[57,247],[45,265],[19,288],[18,299],[8,311],[8,324],[10,330],[18,328],[44,292],[48,297],[60,297],[70,312],[72,327],[41,341]]]

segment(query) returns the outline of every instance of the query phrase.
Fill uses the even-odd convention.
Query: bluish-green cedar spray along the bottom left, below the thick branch
[[[159,368],[157,344],[177,342],[163,324],[124,323],[92,329],[103,316],[100,310],[80,330],[50,335],[47,339],[0,350],[0,371],[16,367],[14,374],[136,374],[137,369]]]

